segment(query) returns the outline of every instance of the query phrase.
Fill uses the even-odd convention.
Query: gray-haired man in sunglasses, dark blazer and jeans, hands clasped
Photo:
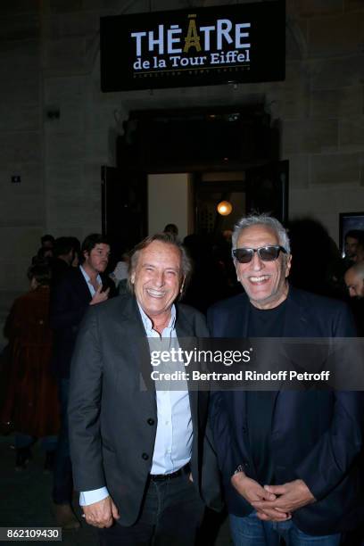
[[[241,219],[232,237],[244,294],[209,310],[214,337],[354,336],[342,302],[295,290],[285,228]],[[314,264],[313,264],[314,265]],[[360,518],[361,393],[223,391],[211,425],[236,546],[336,546]]]

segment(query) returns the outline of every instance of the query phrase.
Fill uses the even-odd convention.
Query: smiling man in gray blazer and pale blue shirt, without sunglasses
[[[175,303],[190,270],[175,237],[147,237],[130,268],[132,294],[89,310],[80,328],[69,407],[75,486],[103,546],[194,546],[203,501],[219,508],[209,393],[186,381],[156,386],[150,352],[178,349],[207,327],[199,311]]]

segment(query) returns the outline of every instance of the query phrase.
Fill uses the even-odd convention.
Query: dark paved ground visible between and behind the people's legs
[[[43,454],[36,445],[33,450],[34,458],[29,462],[29,467],[22,472],[15,472],[12,440],[12,436],[0,436],[0,527],[54,526],[50,500],[52,476],[43,473]],[[81,524],[81,528],[77,531],[63,532],[62,546],[96,546],[98,544],[95,530],[84,521],[81,521]],[[0,542],[0,544],[14,543],[19,542]],[[229,544],[228,527],[225,523],[220,528],[215,546]],[[207,543],[203,543],[202,546],[207,546]]]

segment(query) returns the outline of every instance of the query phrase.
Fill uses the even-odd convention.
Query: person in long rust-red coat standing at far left
[[[5,324],[10,342],[11,375],[2,421],[15,430],[16,470],[31,459],[31,446],[41,439],[45,470],[53,469],[59,431],[57,386],[50,372],[52,331],[49,325],[51,272],[46,265],[29,268],[30,290],[12,305]]]

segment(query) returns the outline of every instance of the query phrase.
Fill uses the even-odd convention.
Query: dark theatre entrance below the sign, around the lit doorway
[[[117,146],[118,168],[103,167],[103,232],[128,246],[147,235],[152,173],[194,174],[195,233],[223,230],[223,200],[233,200],[238,217],[266,211],[287,219],[288,161],[278,161],[278,130],[261,104],[130,112]]]

